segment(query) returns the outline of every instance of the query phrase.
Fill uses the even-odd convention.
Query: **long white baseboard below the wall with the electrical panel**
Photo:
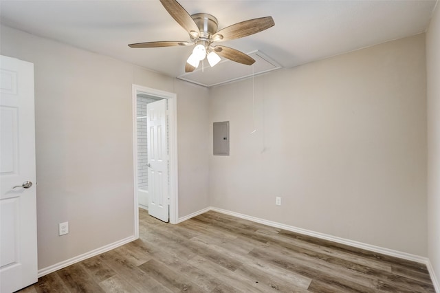
[[[417,263],[423,263],[423,264],[427,264],[428,263],[428,259],[426,257],[420,257],[418,255],[415,254],[410,254],[410,253],[406,253],[406,252],[400,252],[397,250],[392,250],[392,249],[388,249],[388,248],[382,248],[379,246],[373,246],[371,244],[366,244],[366,243],[362,243],[362,242],[358,242],[358,241],[353,241],[350,239],[344,239],[341,237],[336,237],[336,236],[332,236],[332,235],[327,235],[324,233],[320,233],[320,232],[314,232],[311,230],[306,230],[303,228],[298,228],[298,227],[294,227],[294,226],[288,226],[285,224],[281,224],[281,223],[277,223],[275,221],[267,221],[265,219],[260,219],[257,217],[252,217],[252,216],[248,216],[248,215],[243,215],[240,213],[235,213],[235,212],[231,212],[230,210],[223,210],[222,208],[214,208],[211,207],[210,210],[214,210],[215,212],[219,212],[219,213],[223,213],[225,215],[231,215],[234,217],[239,217],[241,219],[247,219],[250,221],[254,221],[256,223],[260,223],[260,224],[264,224],[267,226],[272,226],[275,228],[281,228],[287,231],[292,231],[292,232],[297,232],[303,235],[309,235],[312,237],[317,237],[320,239],[325,239],[325,240],[329,240],[329,241],[333,241],[336,243],[341,243],[341,244],[345,244],[348,246],[353,246],[355,248],[362,248],[364,250],[370,250],[373,252],[377,252],[377,253],[382,253],[382,254],[386,254],[389,255],[391,257],[399,257],[400,259],[406,259],[408,261],[416,261]]]

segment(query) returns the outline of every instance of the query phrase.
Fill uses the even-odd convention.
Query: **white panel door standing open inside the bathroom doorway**
[[[148,213],[168,222],[167,100],[146,105],[148,149]]]

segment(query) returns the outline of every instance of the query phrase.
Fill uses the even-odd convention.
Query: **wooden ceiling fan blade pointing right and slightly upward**
[[[250,36],[262,30],[267,30],[274,25],[275,23],[272,17],[261,17],[259,19],[242,21],[241,23],[235,23],[227,28],[223,28],[223,30],[219,30],[212,36],[212,41],[221,42],[243,38],[243,36]]]

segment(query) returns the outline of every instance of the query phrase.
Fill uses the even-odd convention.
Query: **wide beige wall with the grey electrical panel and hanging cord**
[[[424,37],[256,77],[254,134],[252,80],[212,88],[210,204],[426,256]]]

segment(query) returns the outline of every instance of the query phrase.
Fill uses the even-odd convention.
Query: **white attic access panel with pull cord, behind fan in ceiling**
[[[204,62],[203,70],[203,64],[200,63],[194,72],[182,74],[181,76],[177,76],[177,78],[197,85],[203,85],[204,87],[212,87],[214,85],[221,85],[234,80],[247,78],[252,76],[252,74],[263,74],[281,68],[281,65],[258,50],[250,52],[248,55],[255,59],[253,65],[243,65],[228,59],[223,59],[214,67],[210,67],[208,62]]]

